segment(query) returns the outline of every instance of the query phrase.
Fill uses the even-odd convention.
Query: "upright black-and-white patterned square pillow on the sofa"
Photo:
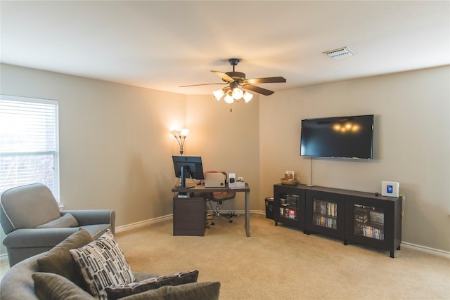
[[[105,287],[134,282],[131,268],[109,229],[86,246],[71,249],[70,254],[82,270],[89,292],[98,299],[106,299]]]

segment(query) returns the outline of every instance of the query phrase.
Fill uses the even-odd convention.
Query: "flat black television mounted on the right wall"
[[[302,119],[300,155],[373,158],[373,115]]]

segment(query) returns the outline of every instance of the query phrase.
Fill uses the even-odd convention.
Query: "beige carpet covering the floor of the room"
[[[221,282],[220,299],[450,299],[450,260],[412,249],[345,246],[323,235],[274,226],[251,214],[219,219],[204,237],[172,235],[172,221],[117,233],[131,268],[167,275],[200,271]]]

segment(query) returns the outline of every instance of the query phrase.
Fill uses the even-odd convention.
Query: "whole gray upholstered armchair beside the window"
[[[79,228],[87,230],[94,239],[108,228],[115,233],[115,211],[60,211],[51,190],[40,183],[5,190],[0,206],[9,266],[48,251]]]

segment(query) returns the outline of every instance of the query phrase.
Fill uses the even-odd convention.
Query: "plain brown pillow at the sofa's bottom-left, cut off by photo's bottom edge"
[[[34,293],[41,300],[80,300],[92,296],[67,278],[53,273],[33,273]]]

